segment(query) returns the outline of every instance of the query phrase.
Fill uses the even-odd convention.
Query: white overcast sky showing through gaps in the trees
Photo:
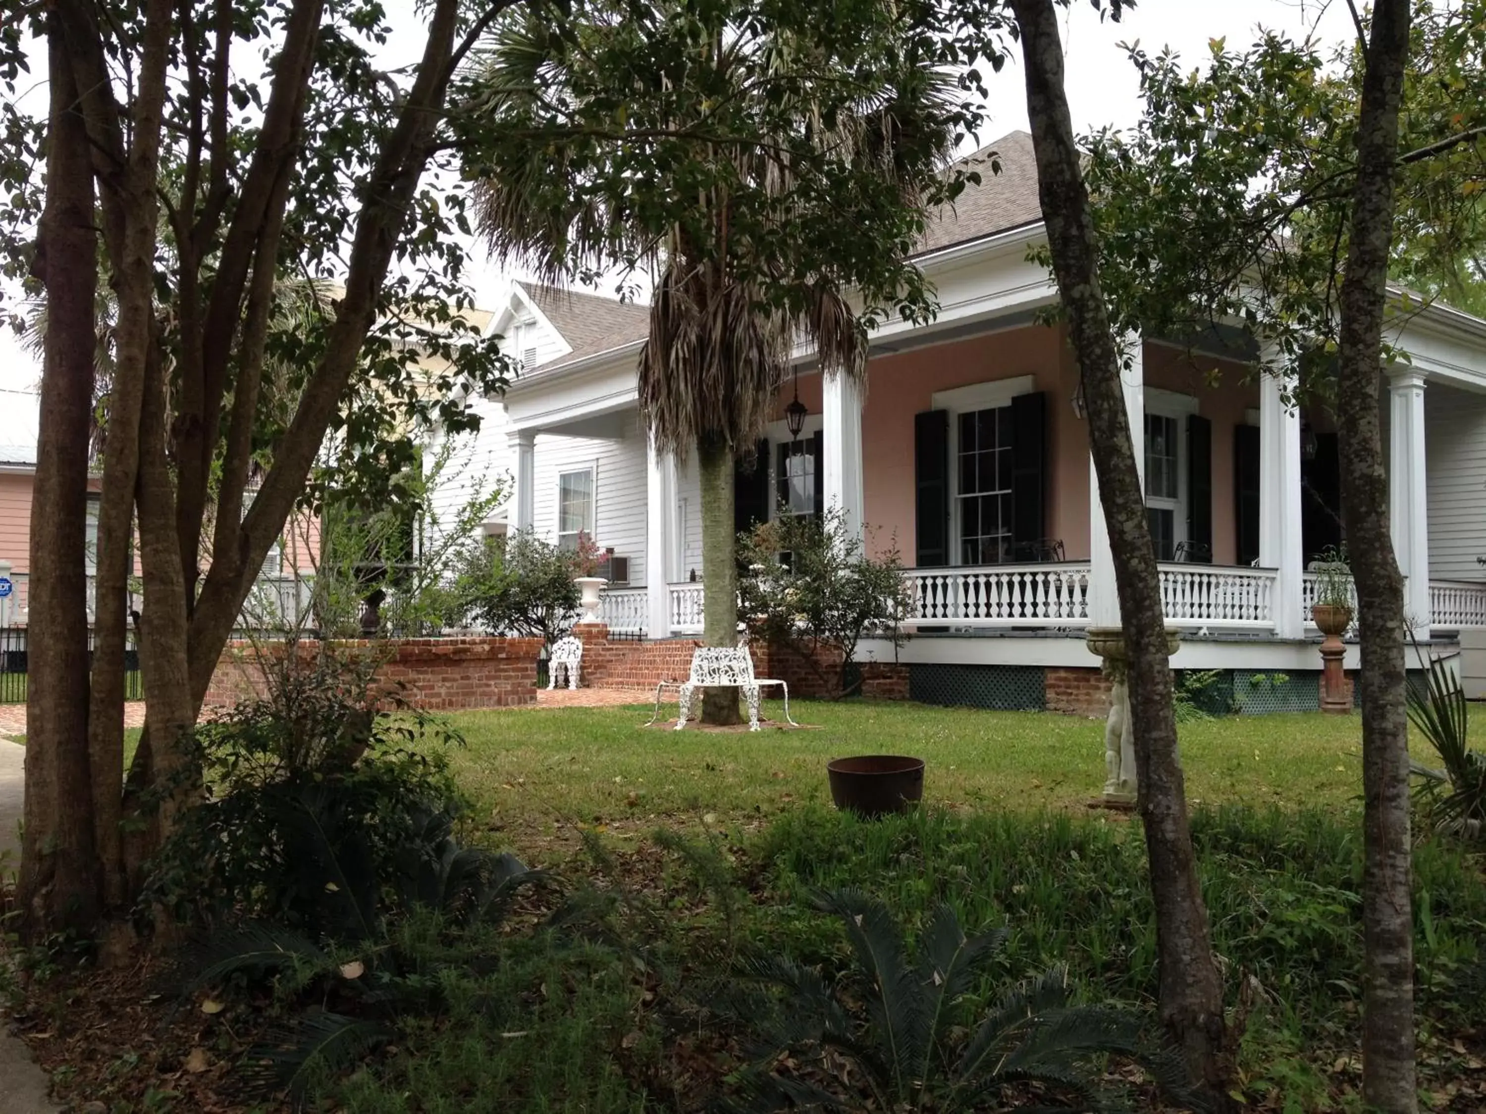
[[[394,34],[382,62],[392,67],[416,61],[421,21],[413,0],[388,0],[386,9]],[[1242,49],[1253,42],[1259,27],[1297,39],[1315,30],[1318,39],[1333,43],[1352,34],[1351,16],[1342,0],[1140,0],[1119,24],[1101,22],[1085,0],[1073,0],[1062,18],[1062,37],[1074,128],[1123,128],[1138,117],[1135,71],[1119,43],[1138,42],[1149,53],[1171,46],[1195,67],[1207,58],[1210,39],[1226,37],[1230,49]],[[410,51],[412,56],[407,56]],[[39,52],[39,58],[45,58],[45,52]],[[988,85],[991,120],[981,141],[990,143],[1009,131],[1027,129],[1018,59],[1009,59]],[[37,92],[45,95],[45,91]],[[504,287],[499,269],[484,266],[474,287],[477,302],[489,304]],[[0,333],[0,389],[31,388],[39,377],[36,359],[21,349],[9,331]]]

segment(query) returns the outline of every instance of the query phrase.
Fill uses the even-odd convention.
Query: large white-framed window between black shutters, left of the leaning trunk
[[[950,411],[951,554],[957,564],[1012,560],[1012,400],[1037,389],[1033,376],[936,391]]]

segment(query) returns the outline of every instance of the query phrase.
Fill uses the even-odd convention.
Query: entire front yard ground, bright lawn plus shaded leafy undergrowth
[[[963,1019],[1051,971],[1065,971],[1070,1006],[1149,1013],[1143,841],[1086,807],[1097,720],[801,707],[813,728],[756,735],[645,729],[637,707],[455,716],[464,744],[428,749],[467,811],[453,833],[434,835],[513,851],[550,885],[473,922],[437,900],[385,900],[373,939],[321,933],[293,958],[218,971],[184,1000],[152,998],[159,982],[95,995],[86,976],[53,977],[33,988],[33,1031],[53,1034],[37,1049],[62,1066],[64,1095],[103,1095],[119,1111],[273,1110],[242,1089],[256,1066],[290,1068],[276,1078],[360,1114],[701,1111],[749,1101],[746,1069],[767,1068],[758,1052],[771,1034],[755,1023],[765,1013],[737,1009],[752,964],[814,971],[860,1006],[843,922],[817,908],[822,891],[844,888],[883,911],[908,955],[921,954],[941,906],[972,939],[1006,930],[966,980]],[[1355,732],[1352,719],[1318,714],[1183,725],[1189,784],[1205,798],[1195,838],[1214,942],[1230,1006],[1247,1016],[1241,1089],[1260,1110],[1340,1111],[1357,1090]],[[846,747],[929,758],[927,807],[881,823],[837,814],[822,766]],[[1416,930],[1433,1108],[1477,1110],[1486,885],[1453,841],[1419,848]],[[56,1038],[82,1003],[103,998],[111,1023]],[[221,1012],[202,1013],[202,1000]],[[296,1028],[305,1035],[311,1003],[309,1032],[321,1010],[357,1022],[340,1029],[343,1050],[266,1056],[290,1052]],[[358,1034],[374,1040],[349,1040]],[[210,1066],[198,1075],[187,1063]],[[1125,1089],[1137,1110],[1178,1108],[1128,1058],[1092,1066],[1101,1092]]]

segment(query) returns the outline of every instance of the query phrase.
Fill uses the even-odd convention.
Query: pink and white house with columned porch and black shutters
[[[993,147],[1003,171],[915,254],[938,318],[880,328],[863,389],[822,382],[802,354],[761,466],[739,474],[737,526],[840,506],[911,566],[914,637],[866,655],[906,662],[923,698],[1034,707],[1049,676],[1097,664],[1082,631],[1116,624],[1119,605],[1077,367],[1062,333],[1037,324],[1057,290],[1028,260],[1045,238],[1031,140]],[[505,524],[612,547],[626,576],[605,600],[611,628],[697,631],[695,471],[652,453],[636,411],[645,309],[516,284],[492,328],[532,354],[504,400],[477,404],[490,420],[470,465],[511,474]],[[1453,652],[1486,630],[1486,321],[1434,304],[1400,315],[1391,339],[1409,354],[1382,391],[1394,547],[1416,631]],[[1342,539],[1331,416],[1288,407],[1236,328],[1196,349],[1128,343],[1126,405],[1167,615],[1183,631],[1174,667],[1219,670],[1239,706],[1257,709],[1257,688],[1276,707],[1314,706],[1308,566]],[[783,422],[796,389],[798,441]]]

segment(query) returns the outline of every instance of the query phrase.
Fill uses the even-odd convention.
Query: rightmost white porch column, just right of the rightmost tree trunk
[[[1404,575],[1403,610],[1415,637],[1430,637],[1430,495],[1424,474],[1422,371],[1388,373],[1388,521]]]

